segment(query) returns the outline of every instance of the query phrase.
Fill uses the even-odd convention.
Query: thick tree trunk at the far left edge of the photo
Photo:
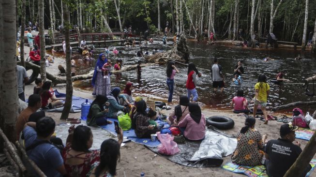
[[[16,77],[16,15],[15,0],[0,0],[0,88],[1,116],[3,132],[12,142],[15,141],[15,122],[19,101]],[[4,33],[4,32],[5,33]],[[24,32],[24,31],[23,31]],[[22,55],[23,55],[23,51]]]

